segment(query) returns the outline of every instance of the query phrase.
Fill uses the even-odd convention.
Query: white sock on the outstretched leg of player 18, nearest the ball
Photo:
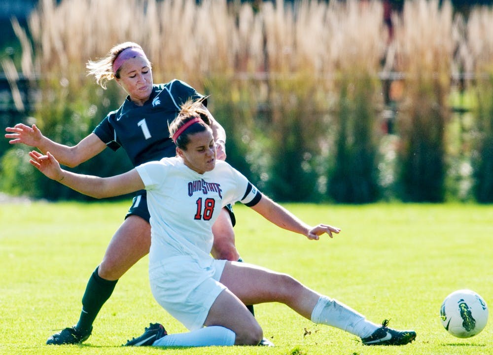
[[[380,328],[380,325],[366,320],[352,308],[326,296],[320,296],[318,299],[312,311],[312,321],[334,326],[360,338],[366,338]]]

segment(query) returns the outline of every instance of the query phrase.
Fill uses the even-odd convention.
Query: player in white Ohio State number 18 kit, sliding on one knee
[[[262,329],[245,304],[281,302],[319,324],[346,330],[365,345],[404,345],[413,330],[368,321],[345,304],[321,295],[289,275],[210,255],[211,226],[222,206],[240,201],[272,223],[308,239],[331,238],[339,228],[309,226],[260,193],[241,173],[216,160],[207,114],[187,103],[170,126],[177,157],[144,163],[111,178],[64,171],[47,153],[30,160],[44,175],[96,198],[147,190],[151,215],[149,280],[158,303],[190,331],[167,334],[151,324],[129,346],[257,345]],[[245,287],[248,284],[248,287]]]

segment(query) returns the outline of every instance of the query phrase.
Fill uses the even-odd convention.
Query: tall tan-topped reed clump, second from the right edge
[[[450,2],[406,1],[395,18],[396,71],[405,75],[398,126],[401,197],[445,199],[445,129],[450,116],[453,9]]]

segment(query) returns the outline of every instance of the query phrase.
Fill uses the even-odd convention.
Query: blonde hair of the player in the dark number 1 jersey
[[[86,64],[86,68],[89,70],[87,75],[94,75],[96,77],[96,82],[101,85],[103,89],[106,89],[106,82],[112,80],[113,78],[120,78],[120,69],[113,73],[113,62],[118,57],[118,55],[127,48],[139,48],[142,47],[134,42],[124,42],[115,45],[106,54],[106,57],[99,58],[97,61],[89,60]],[[147,58],[145,58],[151,67],[151,63]]]

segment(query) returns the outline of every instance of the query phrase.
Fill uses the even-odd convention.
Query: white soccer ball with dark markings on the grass
[[[440,308],[442,325],[453,336],[469,338],[483,330],[488,322],[485,300],[468,289],[449,294]]]

